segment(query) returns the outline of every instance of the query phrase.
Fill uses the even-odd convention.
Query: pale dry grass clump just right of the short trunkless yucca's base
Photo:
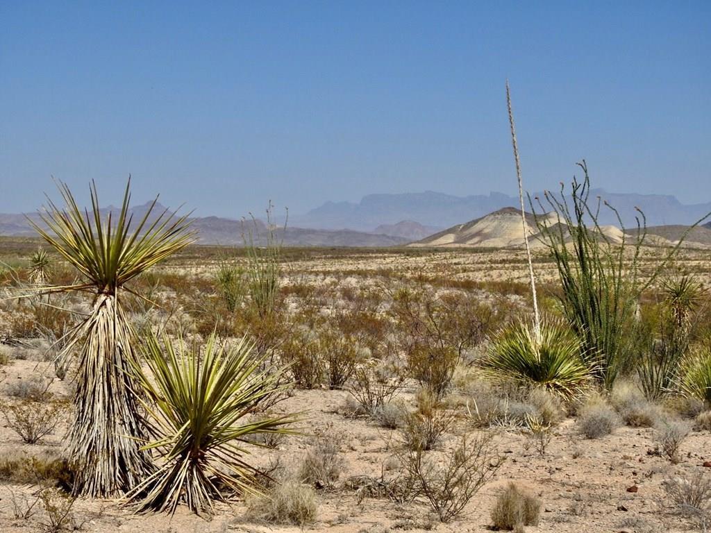
[[[274,524],[295,524],[303,527],[314,522],[318,504],[316,492],[299,480],[282,480],[261,496],[247,500],[247,516]]]

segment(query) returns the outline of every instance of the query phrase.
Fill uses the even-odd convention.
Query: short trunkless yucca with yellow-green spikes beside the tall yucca
[[[127,495],[139,511],[212,510],[225,492],[259,494],[259,470],[245,459],[255,434],[289,434],[294,415],[250,418],[263,399],[287,385],[279,372],[260,371],[245,339],[228,347],[211,335],[204,350],[182,340],[151,335],[144,344],[150,373],[134,363],[147,393],[149,431],[144,450],[156,452],[159,468]]]

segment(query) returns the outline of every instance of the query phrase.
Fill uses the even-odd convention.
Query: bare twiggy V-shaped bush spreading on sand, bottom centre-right
[[[450,522],[476,492],[493,478],[503,458],[493,450],[491,436],[464,436],[444,463],[424,457],[422,448],[405,456],[405,470],[419,485],[440,522]]]

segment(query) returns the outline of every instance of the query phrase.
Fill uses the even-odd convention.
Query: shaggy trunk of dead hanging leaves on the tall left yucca
[[[98,294],[79,332],[75,417],[70,457],[75,490],[114,496],[137,485],[151,470],[138,437],[144,434],[132,372],[132,328],[115,294]]]

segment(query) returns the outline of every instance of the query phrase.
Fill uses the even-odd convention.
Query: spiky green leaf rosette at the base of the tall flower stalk
[[[567,325],[542,322],[535,326],[516,323],[493,338],[481,360],[493,379],[524,387],[544,387],[565,399],[578,397],[591,383],[592,369],[581,356],[581,345]]]

